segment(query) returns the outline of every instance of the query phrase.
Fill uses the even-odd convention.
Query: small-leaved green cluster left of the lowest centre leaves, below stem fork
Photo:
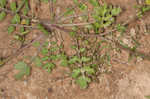
[[[34,60],[35,65],[51,73],[52,69],[56,66],[55,60],[63,57],[58,52],[60,48],[61,46],[58,46],[56,42],[45,42],[41,50],[42,56],[37,56]]]

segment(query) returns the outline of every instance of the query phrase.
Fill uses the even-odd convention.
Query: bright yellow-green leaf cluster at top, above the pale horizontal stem
[[[82,13],[88,12],[91,14],[92,18],[88,15],[82,16],[81,21],[89,22],[89,20],[92,19],[93,21],[89,22],[92,24],[86,25],[84,28],[93,30],[95,33],[100,33],[100,30],[103,30],[104,28],[112,25],[115,22],[116,16],[118,16],[122,11],[120,7],[107,5],[106,3],[100,5],[98,0],[87,0],[87,2],[92,5],[93,12],[88,12],[87,4],[79,2],[79,0],[74,0],[74,4],[79,8]],[[67,8],[64,16],[73,15],[74,13],[75,9]]]

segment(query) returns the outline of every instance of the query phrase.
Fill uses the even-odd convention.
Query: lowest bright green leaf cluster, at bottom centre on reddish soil
[[[84,51],[86,49],[82,48],[80,51]],[[67,64],[72,70],[71,76],[75,79],[75,82],[81,88],[87,88],[88,84],[92,81],[92,77],[96,73],[96,67],[91,65],[91,57],[87,56],[77,56],[74,55],[70,57],[67,61]]]

